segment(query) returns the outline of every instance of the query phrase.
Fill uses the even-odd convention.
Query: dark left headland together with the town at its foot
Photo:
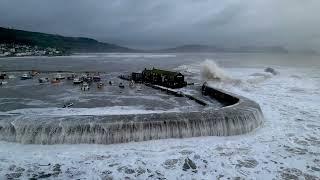
[[[91,52],[136,52],[137,50],[115,44],[99,42],[95,39],[85,37],[66,37],[40,32],[23,31],[0,27],[0,44],[10,47],[12,51],[0,49],[0,54],[27,53],[21,49],[37,49],[36,55],[70,55],[72,53],[91,53]],[[49,51],[48,51],[49,50]],[[2,51],[2,52],[1,52]],[[31,50],[32,51],[32,50]],[[40,52],[42,51],[42,52]],[[46,51],[46,52],[44,52]],[[30,51],[29,51],[30,52]],[[35,52],[35,51],[33,51]],[[25,54],[20,54],[24,56]],[[10,54],[8,54],[10,56]],[[14,55],[15,56],[15,55]]]

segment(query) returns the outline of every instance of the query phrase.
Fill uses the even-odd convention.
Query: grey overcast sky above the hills
[[[135,48],[320,50],[320,0],[0,0],[0,26]]]

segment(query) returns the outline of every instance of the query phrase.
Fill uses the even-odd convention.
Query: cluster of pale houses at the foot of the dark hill
[[[38,46],[21,44],[0,44],[0,57],[22,57],[22,56],[61,56],[63,52],[56,48],[42,48]]]

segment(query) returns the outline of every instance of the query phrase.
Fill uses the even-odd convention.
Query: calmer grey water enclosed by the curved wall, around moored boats
[[[25,112],[22,111],[23,109],[35,110],[36,108],[39,108],[37,112],[41,111],[40,108],[54,108],[56,110],[67,103],[73,103],[73,109],[96,108],[97,111],[99,111],[98,108],[102,111],[101,108],[104,107],[113,107],[113,109],[115,109],[114,107],[135,107],[133,109],[146,111],[196,111],[202,108],[201,105],[187,98],[175,97],[143,84],[129,87],[128,81],[117,77],[118,73],[100,74],[103,87],[98,88],[98,83],[92,82],[88,91],[81,90],[81,85],[76,85],[72,80],[67,79],[61,80],[59,83],[38,82],[41,77],[53,79],[56,73],[40,73],[27,80],[20,79],[22,72],[8,74],[14,75],[15,78],[7,79],[7,84],[0,87],[0,110],[2,112],[15,110],[14,112],[18,113]],[[65,77],[70,75],[70,73],[61,74]],[[119,88],[120,83],[125,88]],[[193,91],[196,92],[196,90]],[[219,106],[218,103],[216,105]],[[19,109],[21,111],[18,111]],[[61,112],[65,112],[65,110],[62,109]]]

